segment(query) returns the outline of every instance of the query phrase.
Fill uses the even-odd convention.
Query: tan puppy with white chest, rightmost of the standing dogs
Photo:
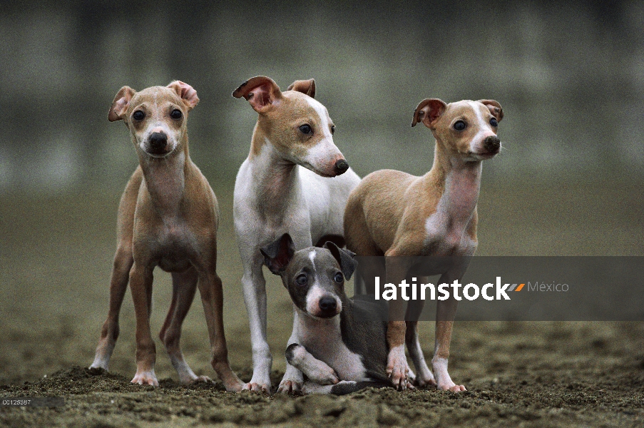
[[[357,255],[417,256],[474,255],[476,203],[481,185],[481,161],[501,150],[496,136],[503,118],[496,101],[459,101],[446,104],[433,98],[421,101],[412,126],[422,121],[436,138],[434,165],[429,173],[415,177],[396,170],[367,175],[353,190],[344,213],[347,248]],[[399,259],[400,260],[400,259]],[[409,266],[386,260],[387,282],[399,284]],[[438,283],[460,280],[462,269],[431,272]],[[430,274],[428,274],[430,275]],[[391,310],[402,314],[402,302],[392,301]],[[408,312],[409,313],[409,312]],[[447,372],[449,342],[456,315],[456,300],[439,300],[436,310],[436,347],[432,375],[418,342],[417,322],[389,321],[387,372],[397,387],[409,386],[409,367],[404,342],[418,371],[416,382],[437,384],[439,389],[464,391]],[[398,317],[402,319],[402,317]],[[407,334],[406,334],[407,331]]]

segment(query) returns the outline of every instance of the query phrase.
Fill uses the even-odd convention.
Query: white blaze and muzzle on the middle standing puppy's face
[[[342,153],[333,143],[333,136],[331,135],[330,119],[327,109],[321,103],[315,101],[314,98],[307,98],[309,105],[320,116],[320,126],[315,128],[316,133],[322,133],[323,138],[311,148],[308,149],[306,156],[302,158],[305,166],[310,167],[317,173],[323,175],[335,175],[335,163]]]

